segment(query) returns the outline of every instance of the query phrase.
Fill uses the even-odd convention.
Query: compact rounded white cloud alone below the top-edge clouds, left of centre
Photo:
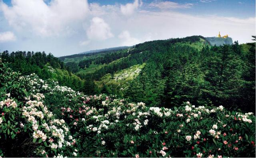
[[[91,25],[86,33],[88,38],[92,40],[105,40],[114,37],[109,25],[102,18],[98,17],[92,18]]]

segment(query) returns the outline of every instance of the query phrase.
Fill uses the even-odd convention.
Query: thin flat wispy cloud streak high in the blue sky
[[[159,8],[160,10],[180,9],[180,8],[191,8],[193,4],[178,4],[170,1],[154,1],[148,4],[150,8]]]

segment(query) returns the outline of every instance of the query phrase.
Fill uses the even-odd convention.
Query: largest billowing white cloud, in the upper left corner
[[[89,8],[87,0],[12,0],[12,6],[0,2],[0,10],[14,29],[44,37],[74,32],[70,26],[84,20]]]

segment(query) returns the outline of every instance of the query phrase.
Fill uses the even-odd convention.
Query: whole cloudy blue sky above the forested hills
[[[255,35],[255,0],[0,0],[0,51],[56,56],[144,41]]]

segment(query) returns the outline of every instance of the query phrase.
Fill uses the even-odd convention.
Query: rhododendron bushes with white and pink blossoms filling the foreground
[[[85,96],[0,62],[2,157],[255,157],[255,116]]]

